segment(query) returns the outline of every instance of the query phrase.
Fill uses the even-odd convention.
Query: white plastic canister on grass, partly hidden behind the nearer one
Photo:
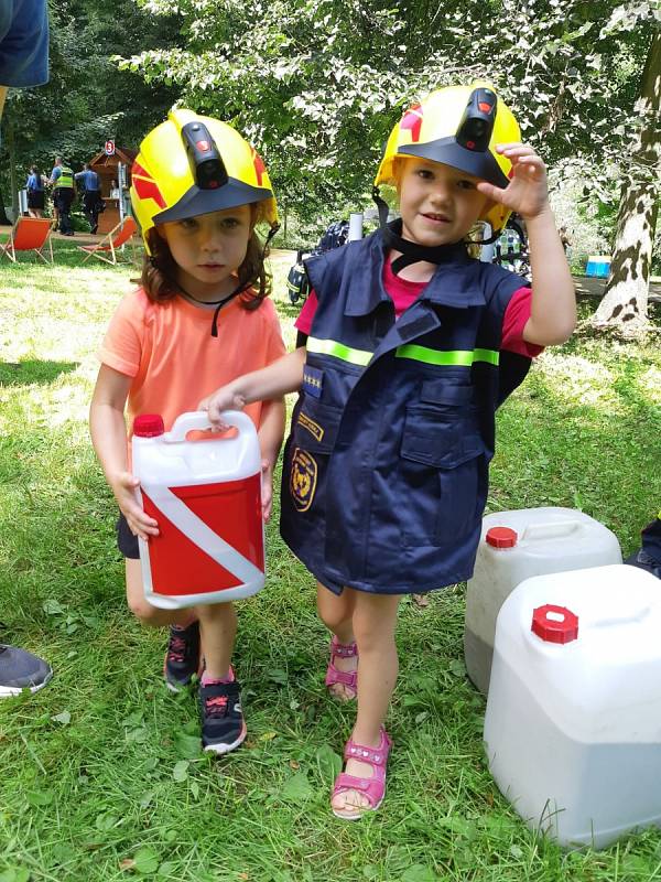
[[[466,670],[480,692],[489,691],[496,616],[520,582],[621,562],[615,534],[583,512],[546,507],[487,515],[468,581],[464,631]]]

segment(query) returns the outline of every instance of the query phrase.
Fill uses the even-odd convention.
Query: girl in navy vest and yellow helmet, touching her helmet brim
[[[375,185],[401,219],[306,263],[304,345],[204,399],[212,423],[300,390],[284,453],[281,533],[318,580],[333,632],[327,684],[357,693],[333,813],[379,807],[391,740],[402,594],[473,571],[495,410],[542,347],[575,325],[545,166],[488,84],[432,93],[394,127]],[[387,206],[378,196],[381,207]],[[527,224],[533,289],[468,256],[478,222]],[[382,213],[382,215],[386,212]]]

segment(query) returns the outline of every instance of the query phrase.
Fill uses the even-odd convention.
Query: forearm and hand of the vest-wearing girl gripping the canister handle
[[[208,410],[213,428],[225,431],[228,427],[220,419],[224,410],[242,410],[252,401],[266,401],[280,398],[285,392],[296,391],[303,383],[304,364],[305,348],[302,346],[289,355],[283,355],[268,367],[237,377],[213,395],[203,398],[197,408]]]

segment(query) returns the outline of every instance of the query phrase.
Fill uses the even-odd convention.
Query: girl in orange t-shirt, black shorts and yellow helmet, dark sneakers
[[[237,628],[231,603],[161,610],[144,598],[138,537],[159,534],[136,499],[128,459],[129,426],[161,413],[165,429],[195,410],[201,387],[280,358],[284,345],[270,300],[266,246],[254,228],[278,229],[264,165],[229,126],[175,110],[142,141],[131,201],[147,248],[142,287],[115,313],[100,349],[90,409],[91,438],[120,508],[118,545],[126,557],[127,600],[148,625],[170,625],[165,681],[173,690],[204,671],[199,686],[205,750],[227,753],[246,738],[239,684],[231,668]],[[271,512],[272,474],[284,432],[284,402],[249,411],[262,454],[262,508]]]

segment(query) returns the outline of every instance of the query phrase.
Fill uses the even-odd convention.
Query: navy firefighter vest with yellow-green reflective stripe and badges
[[[503,397],[502,316],[525,284],[448,246],[395,322],[384,254],[377,232],[306,263],[318,306],[284,452],[281,534],[336,592],[405,594],[470,577]]]

